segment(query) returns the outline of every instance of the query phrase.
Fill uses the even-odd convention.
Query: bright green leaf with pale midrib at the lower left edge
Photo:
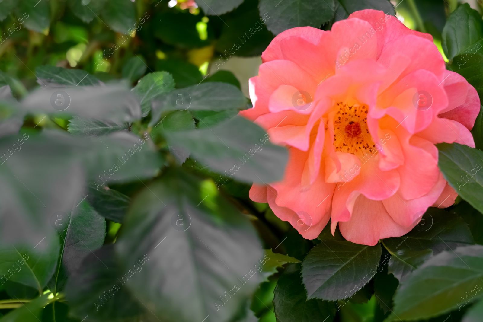
[[[19,246],[0,250],[1,283],[9,280],[30,286],[40,294],[54,274],[60,249],[57,238],[45,238],[35,247]]]

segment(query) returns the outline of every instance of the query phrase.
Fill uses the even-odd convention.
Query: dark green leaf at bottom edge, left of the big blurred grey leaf
[[[130,271],[123,271],[113,248],[107,245],[89,253],[69,278],[66,297],[72,315],[79,320],[88,315],[86,321],[122,321],[142,313],[142,304],[125,284],[132,277],[130,274],[136,273],[133,269],[141,272],[146,266],[136,265]]]

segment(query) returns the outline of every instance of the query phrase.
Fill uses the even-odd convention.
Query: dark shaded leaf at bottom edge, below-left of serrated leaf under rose
[[[277,322],[333,321],[336,313],[335,303],[307,299],[300,278],[300,265],[297,264],[287,266],[280,276],[277,287],[275,287],[273,303]]]

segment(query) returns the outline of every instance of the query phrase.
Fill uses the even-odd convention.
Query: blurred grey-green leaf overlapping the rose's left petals
[[[165,135],[170,145],[189,151],[227,179],[264,183],[284,175],[287,150],[267,141],[263,129],[241,116],[210,128]]]

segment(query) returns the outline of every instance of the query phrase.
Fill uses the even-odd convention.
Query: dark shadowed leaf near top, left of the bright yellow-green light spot
[[[199,2],[199,5],[201,4],[202,2]],[[153,34],[163,42],[180,48],[204,47],[210,44],[210,38],[213,35],[209,30],[208,39],[201,40],[199,38],[196,24],[201,21],[201,18],[201,14],[193,15],[181,12],[159,14],[154,18]]]

